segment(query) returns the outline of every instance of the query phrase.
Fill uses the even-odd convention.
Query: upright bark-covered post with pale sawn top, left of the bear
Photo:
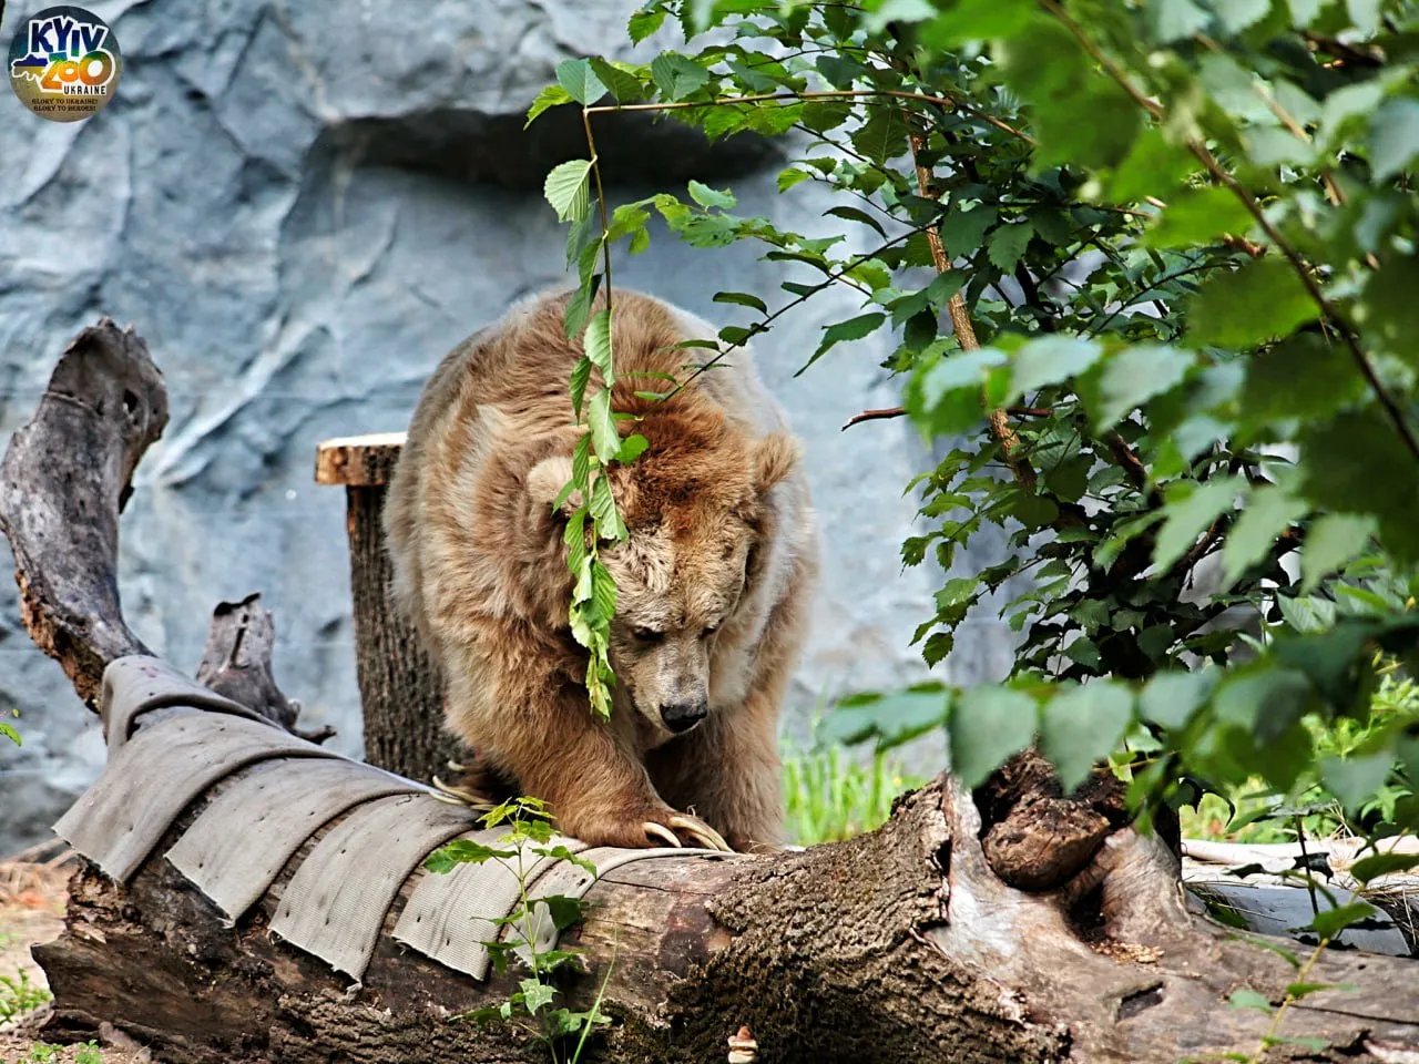
[[[315,480],[345,485],[365,759],[427,780],[447,776],[448,760],[464,759],[465,750],[443,728],[438,670],[390,602],[393,566],[380,521],[400,443],[397,434],[326,441],[316,453]]]

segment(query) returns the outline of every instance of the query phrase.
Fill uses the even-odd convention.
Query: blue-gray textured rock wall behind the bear
[[[125,611],[192,668],[217,599],[261,590],[278,626],[277,675],[309,725],[359,752],[343,497],[312,484],[316,441],[402,428],[458,339],[514,298],[563,279],[563,235],[541,197],[578,155],[576,123],[524,135],[522,111],[558,61],[616,47],[633,4],[480,0],[417,6],[92,1],[125,70],[115,101],[60,125],[0,89],[0,428],[34,409],[67,339],[99,314],[133,322],[162,366],[173,419],[139,470],[123,522]],[[0,41],[24,4],[9,4]],[[707,150],[677,126],[604,121],[613,199],[687,177],[732,183],[746,211],[812,230],[832,206],[775,194],[773,150]],[[718,288],[773,292],[782,267],[749,248],[657,238],[617,282],[711,321]],[[847,295],[853,295],[847,292]],[[836,298],[836,302],[834,302]],[[731,308],[732,309],[732,308]],[[884,340],[793,372],[834,314],[826,297],[783,319],[759,360],[809,445],[824,580],[793,726],[844,688],[922,667],[907,647],[931,575],[900,572],[928,455],[901,421],[839,427],[891,406]],[[9,570],[9,558],[0,559]],[[1007,641],[962,640],[956,678],[999,672]],[[0,853],[44,829],[102,763],[94,722],[0,594]]]

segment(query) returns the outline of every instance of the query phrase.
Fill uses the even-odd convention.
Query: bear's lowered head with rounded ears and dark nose
[[[650,445],[610,471],[629,536],[602,546],[616,579],[610,658],[626,701],[668,739],[710,714],[717,643],[758,636],[763,619],[741,606],[772,526],[771,489],[792,472],[799,444],[788,433],[748,436],[718,416],[648,417],[633,431]],[[549,504],[569,478],[569,458],[545,458],[528,489]]]

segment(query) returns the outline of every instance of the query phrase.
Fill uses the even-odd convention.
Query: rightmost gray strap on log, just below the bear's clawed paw
[[[505,831],[497,827],[475,831],[470,838],[497,847]],[[556,846],[572,853],[586,848],[585,843],[565,836],[553,836],[548,843],[548,847]],[[558,864],[555,857],[528,853],[522,857],[521,878],[531,890],[538,877]],[[455,972],[485,979],[492,963],[487,943],[497,942],[501,931],[497,921],[512,912],[522,897],[518,878],[515,857],[460,864],[450,872],[426,872],[409,894],[394,925],[394,938]]]

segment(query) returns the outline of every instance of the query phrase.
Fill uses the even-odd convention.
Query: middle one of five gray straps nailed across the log
[[[264,762],[211,800],[167,851],[167,860],[236,921],[329,820],[363,802],[423,790],[412,780],[345,759]]]

